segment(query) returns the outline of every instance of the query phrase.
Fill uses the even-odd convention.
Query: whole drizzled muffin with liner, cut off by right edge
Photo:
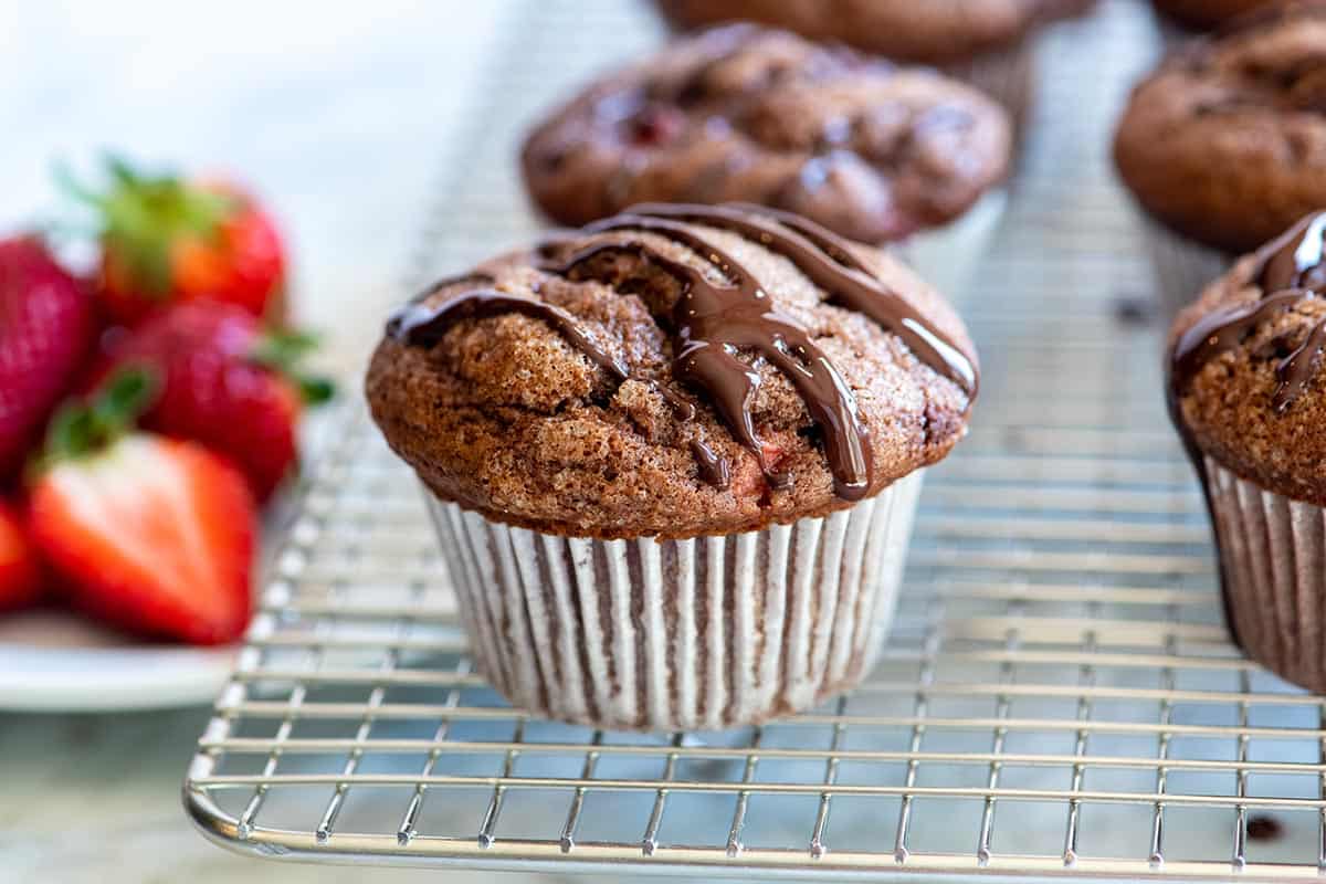
[[[1170,402],[1203,481],[1229,627],[1326,691],[1326,213],[1240,258],[1170,335]]]

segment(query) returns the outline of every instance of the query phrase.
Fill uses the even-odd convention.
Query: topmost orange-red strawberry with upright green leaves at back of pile
[[[174,301],[211,298],[276,322],[284,317],[285,252],[263,207],[233,184],[147,176],[107,159],[105,193],[66,180],[98,215],[99,297],[135,325]]]

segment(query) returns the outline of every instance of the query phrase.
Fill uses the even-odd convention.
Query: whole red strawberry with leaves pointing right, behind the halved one
[[[332,395],[325,380],[297,372],[313,346],[305,334],[263,331],[233,305],[196,301],[113,343],[109,370],[137,366],[156,374],[160,396],[141,425],[225,455],[263,502],[296,464],[302,404]]]

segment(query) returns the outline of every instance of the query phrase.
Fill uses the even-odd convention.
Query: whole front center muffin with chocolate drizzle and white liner
[[[857,684],[976,388],[910,269],[752,205],[639,205],[439,282],[367,375],[480,669],[532,713],[625,729]]]

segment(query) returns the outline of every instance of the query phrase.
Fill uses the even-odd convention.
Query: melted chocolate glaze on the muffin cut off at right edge
[[[1290,228],[1278,240],[1261,252],[1261,266],[1253,274],[1265,294],[1260,301],[1244,306],[1213,310],[1201,317],[1192,327],[1179,335],[1170,354],[1168,406],[1183,447],[1201,478],[1201,489],[1207,501],[1207,513],[1215,526],[1216,516],[1211,500],[1211,481],[1207,474],[1205,455],[1183,417],[1181,399],[1203,367],[1223,353],[1242,343],[1257,326],[1281,310],[1319,297],[1326,288],[1326,212],[1309,215]],[[1301,347],[1294,350],[1276,367],[1278,384],[1272,400],[1277,414],[1286,412],[1294,402],[1307,391],[1321,367],[1322,350],[1326,349],[1326,319],[1307,335]],[[1224,553],[1220,549],[1220,534],[1216,538],[1216,558],[1220,566],[1220,583],[1228,587],[1228,571]],[[1225,602],[1225,623],[1238,641],[1237,628],[1229,616],[1228,588],[1223,592]]]

